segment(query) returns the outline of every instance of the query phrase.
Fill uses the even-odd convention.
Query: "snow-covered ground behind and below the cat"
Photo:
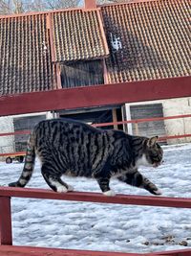
[[[23,164],[0,163],[0,184],[15,181]],[[191,144],[164,147],[164,163],[141,173],[164,197],[191,198]],[[66,177],[76,191],[100,192],[95,180]],[[147,195],[113,180],[119,194]],[[28,187],[48,188],[36,163]],[[123,252],[152,252],[191,247],[191,210],[12,198],[13,243]]]

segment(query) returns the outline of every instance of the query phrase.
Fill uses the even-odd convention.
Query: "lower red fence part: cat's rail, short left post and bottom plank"
[[[105,197],[99,193],[71,192],[66,194],[54,193],[53,191],[43,189],[22,189],[22,188],[0,188],[0,255],[1,256],[138,256],[138,255],[171,255],[188,256],[191,255],[190,249],[153,252],[153,253],[122,253],[122,252],[98,252],[73,249],[54,249],[38,248],[26,246],[13,246],[11,235],[11,198],[39,198],[39,199],[57,199],[74,201],[91,201],[101,203],[135,204],[151,205],[162,207],[180,207],[191,208],[191,198],[165,198],[165,197],[147,197],[147,196],[125,196],[117,195],[115,197]]]

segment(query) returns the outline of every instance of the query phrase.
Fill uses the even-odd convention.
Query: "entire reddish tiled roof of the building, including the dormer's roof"
[[[57,88],[56,66],[106,59],[108,81],[191,75],[189,0],[0,16],[0,95]]]

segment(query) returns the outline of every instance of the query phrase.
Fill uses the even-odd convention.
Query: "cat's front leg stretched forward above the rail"
[[[132,185],[138,188],[143,188],[149,191],[151,194],[154,194],[157,196],[161,195],[161,191],[159,190],[159,188],[153,182],[151,182],[148,178],[141,175],[138,172],[138,170],[136,170],[134,173],[127,173],[125,175],[121,175],[118,177],[118,179],[129,185]]]

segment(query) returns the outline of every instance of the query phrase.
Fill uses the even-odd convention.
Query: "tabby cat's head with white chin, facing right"
[[[158,167],[162,163],[163,151],[159,146],[158,136],[147,138],[144,141],[141,157],[138,159],[138,165]]]

